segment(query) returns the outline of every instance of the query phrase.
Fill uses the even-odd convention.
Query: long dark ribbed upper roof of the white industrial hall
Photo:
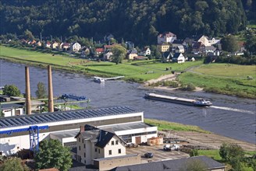
[[[92,110],[69,110],[53,113],[41,113],[31,115],[20,115],[16,117],[5,117],[0,119],[0,128],[19,127],[30,124],[44,124],[64,120],[78,120],[91,117],[105,117],[110,115],[140,112],[130,106],[112,106]]]

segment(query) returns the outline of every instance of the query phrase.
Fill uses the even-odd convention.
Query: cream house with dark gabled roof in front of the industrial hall
[[[86,165],[94,159],[126,155],[126,142],[115,133],[86,124],[76,134],[76,160]]]

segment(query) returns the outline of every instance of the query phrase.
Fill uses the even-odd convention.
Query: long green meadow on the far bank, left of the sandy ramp
[[[181,72],[186,68],[201,65],[202,61],[186,62],[184,64],[162,63],[159,61],[123,61],[116,65],[112,62],[88,61],[82,58],[70,58],[64,55],[46,54],[37,51],[20,50],[13,47],[0,46],[0,56],[12,61],[22,60],[28,64],[41,63],[41,66],[52,65],[53,68],[80,72],[87,75],[117,76],[124,75],[126,79],[137,82],[144,82],[149,79],[157,79],[161,75],[170,74],[172,68],[176,72]]]

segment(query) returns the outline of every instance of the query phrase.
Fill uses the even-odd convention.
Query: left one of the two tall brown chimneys
[[[30,70],[25,67],[25,77],[26,77],[26,112],[31,114],[31,99],[30,99]]]

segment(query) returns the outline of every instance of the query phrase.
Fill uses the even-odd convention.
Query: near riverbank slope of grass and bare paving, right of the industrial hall
[[[177,124],[165,120],[145,119],[145,123],[158,126],[158,131],[170,138],[189,141],[190,144],[201,145],[208,148],[219,149],[222,143],[234,143],[240,145],[245,151],[255,152],[256,145],[239,141],[233,138],[214,134],[210,131],[204,131],[200,127],[186,124]]]

